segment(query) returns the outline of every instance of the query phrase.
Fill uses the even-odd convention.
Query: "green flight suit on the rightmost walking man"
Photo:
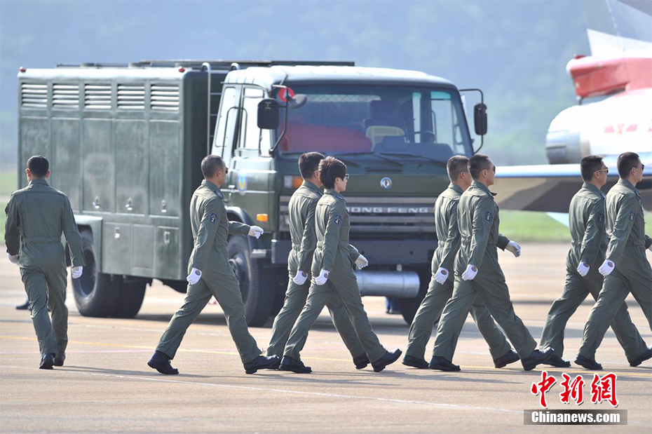
[[[584,327],[578,355],[590,360],[595,360],[595,351],[604,333],[630,292],[652,328],[652,267],[645,256],[652,239],[645,234],[641,194],[626,179],[618,179],[606,195],[605,221],[609,245],[604,257],[613,261],[616,268],[604,278],[598,300]],[[602,263],[596,265],[599,267]]]

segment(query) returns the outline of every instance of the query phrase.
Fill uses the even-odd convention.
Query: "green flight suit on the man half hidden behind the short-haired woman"
[[[308,290],[310,289],[311,262],[313,253],[317,246],[317,236],[315,234],[315,208],[317,202],[322,196],[318,187],[310,181],[304,181],[301,187],[294,191],[290,204],[288,205],[290,213],[290,238],[292,238],[292,250],[287,257],[287,272],[290,281],[287,283],[285,292],[285,303],[280,309],[274,324],[272,326],[272,336],[267,348],[267,355],[278,355],[283,357],[283,349],[290,336],[290,331],[294,322],[299,318],[301,309],[306,305]],[[353,246],[351,246],[353,247]],[[355,247],[351,250],[351,259],[358,259],[360,253]],[[292,278],[297,275],[297,270],[304,271],[308,278],[303,285],[297,285]],[[327,302],[326,307],[333,320],[333,324],[339,332],[346,348],[353,358],[365,354],[365,348],[362,348],[358,335],[348,319],[344,304],[339,296],[333,294]]]

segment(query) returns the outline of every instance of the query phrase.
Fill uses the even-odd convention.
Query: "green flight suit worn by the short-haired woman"
[[[339,295],[348,318],[353,323],[362,347],[369,360],[375,362],[386,353],[378,337],[369,324],[367,312],[362,306],[358,280],[353,273],[353,260],[348,244],[348,231],[351,229],[346,200],[332,189],[326,189],[315,209],[315,232],[317,247],[313,255],[311,287],[306,305],[299,314],[287,339],[283,355],[301,360],[299,353],[306,344],[308,331],[315,323],[319,313],[333,294]],[[321,270],[330,271],[324,285],[317,285],[315,277]]]

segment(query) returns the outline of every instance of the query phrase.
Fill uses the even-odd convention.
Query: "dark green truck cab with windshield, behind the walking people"
[[[259,106],[270,100],[280,112],[278,126],[259,128]],[[247,318],[265,318],[275,301],[276,308],[283,302],[291,248],[287,205],[301,184],[298,158],[307,151],[348,167],[351,243],[369,259],[356,272],[360,292],[397,297],[410,322],[430,280],[433,205],[449,184],[447,160],[473,155],[459,90],[422,72],[383,68],[275,65],[229,72],[212,154],[229,166],[222,188],[229,208],[265,230],[252,247],[258,262],[251,266],[274,276],[245,288],[269,297],[260,304],[264,312],[247,311]],[[246,255],[236,250],[236,257]],[[234,262],[236,270],[247,265]],[[236,274],[244,283],[251,273]]]

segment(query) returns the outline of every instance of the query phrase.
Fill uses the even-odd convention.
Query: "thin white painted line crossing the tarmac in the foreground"
[[[39,371],[38,368],[34,367],[22,367],[22,366],[8,366],[0,365],[0,368],[3,369],[23,369],[28,371]],[[456,404],[443,404],[440,402],[429,402],[429,401],[418,401],[418,400],[399,400],[395,398],[381,398],[379,396],[359,396],[359,395],[339,395],[337,393],[323,393],[323,392],[306,392],[306,391],[291,391],[288,389],[278,389],[278,388],[264,388],[264,387],[253,387],[253,386],[233,386],[232,384],[219,384],[219,383],[202,383],[200,381],[183,381],[183,380],[170,380],[154,377],[137,377],[135,375],[123,375],[123,374],[98,374],[96,372],[81,372],[75,371],[72,369],[57,369],[57,372],[62,372],[65,374],[79,374],[79,375],[94,375],[96,377],[114,377],[120,379],[136,379],[143,381],[159,381],[161,383],[172,383],[172,384],[192,384],[194,386],[210,386],[210,387],[219,387],[219,388],[232,388],[232,389],[242,389],[247,391],[264,391],[264,392],[273,392],[273,393],[290,393],[294,395],[311,395],[311,396],[322,396],[327,398],[346,398],[351,400],[370,400],[370,401],[380,401],[380,402],[393,402],[395,404],[412,404],[412,405],[426,405],[428,407],[439,407],[446,409],[456,409],[463,411],[483,411],[483,412],[503,412],[503,413],[518,413],[522,414],[523,410],[511,410],[511,409],[501,409],[501,408],[491,408],[491,407],[473,407],[470,405],[456,405]]]

